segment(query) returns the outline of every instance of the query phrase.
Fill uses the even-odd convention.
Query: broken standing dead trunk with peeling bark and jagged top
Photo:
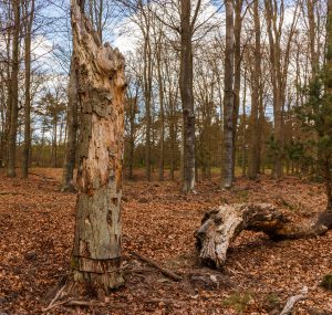
[[[74,282],[104,295],[123,284],[124,59],[101,44],[76,0],[71,0],[71,17],[82,126],[72,271]]]

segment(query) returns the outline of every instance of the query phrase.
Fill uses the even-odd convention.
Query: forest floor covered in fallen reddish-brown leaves
[[[45,293],[70,271],[75,195],[61,193],[61,169],[33,169],[29,179],[0,174],[0,314],[42,314]],[[41,176],[42,175],[42,176]],[[194,232],[204,213],[225,202],[272,202],[295,220],[324,209],[323,186],[295,178],[238,179],[229,191],[216,180],[185,196],[179,182],[125,181],[125,286],[104,306],[58,306],[44,314],[279,314],[307,285],[293,314],[332,314],[332,293],[320,287],[332,271],[332,231],[308,240],[273,242],[243,232],[224,270],[199,265]],[[174,282],[129,254],[148,256],[183,280]]]

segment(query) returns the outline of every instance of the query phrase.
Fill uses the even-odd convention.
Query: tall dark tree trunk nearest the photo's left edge
[[[7,176],[15,177],[17,164],[17,133],[18,133],[18,114],[19,114],[19,41],[20,41],[20,1],[12,1],[14,11],[14,29],[12,40],[12,71],[11,71],[11,112],[10,112],[10,129],[8,137],[8,166]]]

